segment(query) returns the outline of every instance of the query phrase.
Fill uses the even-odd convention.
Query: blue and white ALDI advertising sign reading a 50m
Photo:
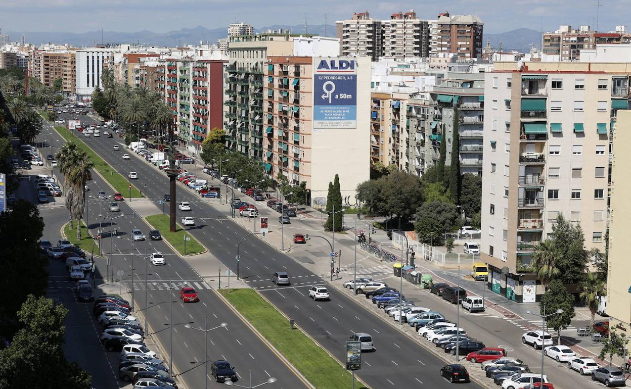
[[[314,129],[357,127],[355,59],[315,58]]]

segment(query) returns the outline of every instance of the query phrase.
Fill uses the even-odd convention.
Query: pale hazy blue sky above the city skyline
[[[596,4],[600,4],[598,7]],[[559,25],[591,25],[614,30],[628,23],[631,0],[0,0],[0,28],[13,32],[73,32],[100,30],[164,33],[180,28],[225,27],[245,21],[256,28],[275,24],[329,25],[369,11],[374,18],[389,18],[415,9],[422,19],[437,13],[474,14],[487,33],[516,28],[555,30]]]

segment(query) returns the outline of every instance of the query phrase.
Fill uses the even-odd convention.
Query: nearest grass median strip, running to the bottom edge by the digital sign
[[[318,389],[350,389],[351,373],[252,289],[221,289],[225,298]],[[340,347],[344,347],[342,344]],[[340,349],[339,354],[343,355]],[[361,373],[361,370],[358,372]],[[355,381],[355,388],[363,388]]]

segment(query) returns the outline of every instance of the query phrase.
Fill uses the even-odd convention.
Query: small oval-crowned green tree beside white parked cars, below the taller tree
[[[563,312],[550,315],[557,310],[563,310]],[[548,284],[546,293],[541,296],[540,315],[550,315],[546,318],[546,324],[557,332],[557,342],[561,344],[560,330],[567,328],[576,315],[574,297],[565,289],[562,281],[555,279]]]

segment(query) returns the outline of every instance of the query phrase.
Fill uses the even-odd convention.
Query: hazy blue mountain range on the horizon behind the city
[[[304,25],[272,25],[257,28],[256,32],[267,30],[290,30],[292,33],[303,33]],[[185,44],[199,44],[208,42],[214,44],[220,38],[226,37],[226,28],[209,29],[203,26],[194,28],[182,28],[181,30],[169,31],[166,33],[155,33],[147,30],[138,32],[114,32],[114,31],[90,31],[85,33],[71,32],[8,32],[11,40],[16,41],[21,34],[26,35],[27,42],[35,45],[54,43],[69,44],[74,47],[89,47],[100,43],[138,43],[156,46],[181,46]],[[307,25],[307,32],[315,35],[335,36],[335,26],[333,25]],[[484,44],[487,40],[492,47],[497,49],[502,42],[502,49],[527,51],[531,44],[539,46],[541,44],[541,33],[529,28],[518,28],[504,33],[486,33]]]

